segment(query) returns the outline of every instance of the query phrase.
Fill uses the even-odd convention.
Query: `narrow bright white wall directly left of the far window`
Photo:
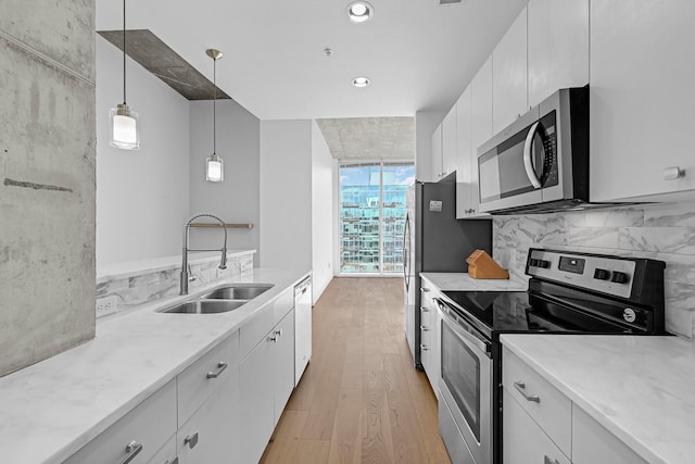
[[[333,278],[333,179],[338,163],[312,122],[312,262],[314,303]]]

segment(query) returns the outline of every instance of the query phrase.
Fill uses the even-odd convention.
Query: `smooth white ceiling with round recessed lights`
[[[211,80],[205,50],[222,50],[218,87],[261,120],[414,116],[451,108],[528,0],[369,1],[372,20],[352,24],[350,0],[130,0],[127,28]],[[98,0],[97,29],[122,27],[122,0]]]

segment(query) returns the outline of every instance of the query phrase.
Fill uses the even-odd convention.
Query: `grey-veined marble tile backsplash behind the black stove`
[[[694,339],[695,203],[493,217],[493,254],[527,278],[530,247],[650,258],[666,262],[666,328]]]

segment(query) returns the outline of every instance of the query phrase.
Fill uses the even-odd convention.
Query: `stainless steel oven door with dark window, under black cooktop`
[[[491,463],[491,342],[460,317],[450,314],[442,303],[439,303],[439,313],[442,356],[439,388],[440,401],[445,402],[440,409],[446,406],[451,412],[453,422],[466,442],[465,448],[475,463]],[[442,430],[442,436],[451,437],[451,430]],[[463,461],[471,462],[470,459]]]

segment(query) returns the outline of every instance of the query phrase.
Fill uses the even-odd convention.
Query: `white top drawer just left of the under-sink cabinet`
[[[239,333],[236,331],[177,377],[178,423],[184,424],[201,404],[238,369]]]

